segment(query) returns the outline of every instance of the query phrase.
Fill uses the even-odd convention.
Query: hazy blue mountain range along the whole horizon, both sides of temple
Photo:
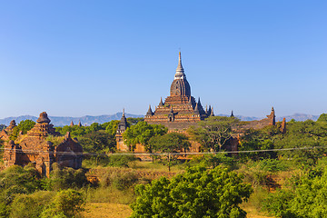
[[[120,120],[123,113],[116,113],[112,115],[98,115],[98,116],[90,116],[85,115],[81,117],[71,117],[71,116],[49,116],[51,120],[51,124],[54,124],[54,126],[64,126],[69,125],[72,121],[74,124],[78,124],[79,121],[81,121],[82,125],[90,125],[93,123],[98,124],[104,124],[105,122],[109,122],[112,120]],[[138,115],[138,114],[125,114],[126,117],[144,117],[144,115]],[[222,116],[228,116],[226,114],[218,114]],[[264,117],[255,117],[255,116],[241,116],[236,115],[237,118],[243,120],[243,121],[253,121],[253,120],[261,120]],[[293,114],[289,116],[284,116],[286,118],[286,121],[290,121],[292,119],[296,121],[306,121],[306,120],[313,120],[316,121],[319,118],[319,115],[311,115],[311,114]],[[276,121],[282,121],[283,117],[276,117]],[[22,120],[33,120],[36,121],[36,116],[31,115],[21,115],[18,117],[6,117],[4,119],[0,119],[0,124],[9,125],[10,121],[15,120],[16,124],[19,124]]]

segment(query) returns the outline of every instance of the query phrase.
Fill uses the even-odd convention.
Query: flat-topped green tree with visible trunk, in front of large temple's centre
[[[168,161],[168,170],[171,170],[172,161],[174,160],[173,153],[180,151],[186,152],[191,144],[185,134],[170,133],[157,135],[149,140],[149,146],[154,152],[166,153],[166,160]]]

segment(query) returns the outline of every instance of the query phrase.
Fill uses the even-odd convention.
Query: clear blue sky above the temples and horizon
[[[145,114],[182,51],[215,114],[327,113],[327,1],[1,1],[0,118]]]

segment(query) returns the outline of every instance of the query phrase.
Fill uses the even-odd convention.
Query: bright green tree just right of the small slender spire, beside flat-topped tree
[[[168,129],[162,124],[147,124],[144,121],[138,122],[126,129],[123,134],[124,142],[131,150],[136,144],[143,144],[146,151],[152,153],[152,147],[148,144],[151,137],[166,134]]]

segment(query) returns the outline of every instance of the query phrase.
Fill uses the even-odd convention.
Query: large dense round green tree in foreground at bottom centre
[[[252,192],[240,174],[220,166],[212,170],[195,166],[171,180],[162,177],[137,185],[131,217],[243,218],[246,212],[239,205]]]

